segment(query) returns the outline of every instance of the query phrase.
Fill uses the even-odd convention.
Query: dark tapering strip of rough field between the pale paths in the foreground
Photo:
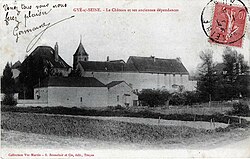
[[[185,139],[212,133],[187,126],[146,125],[98,118],[13,112],[2,112],[1,126],[5,130],[132,143],[157,143],[175,137]]]

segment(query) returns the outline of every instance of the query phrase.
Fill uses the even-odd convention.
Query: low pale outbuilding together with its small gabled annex
[[[34,88],[34,102],[47,106],[132,106],[137,101],[137,95],[125,82],[105,85],[93,77],[50,77]]]

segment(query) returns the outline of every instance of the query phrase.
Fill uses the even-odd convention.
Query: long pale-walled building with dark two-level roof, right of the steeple
[[[75,58],[75,56],[74,56]],[[78,61],[75,69],[82,77],[94,77],[104,84],[112,81],[125,81],[135,90],[167,89],[176,91],[195,90],[196,81],[189,80],[189,73],[180,59],[161,59],[130,56],[127,62]]]

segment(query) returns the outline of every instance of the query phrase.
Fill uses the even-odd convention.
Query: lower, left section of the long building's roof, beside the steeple
[[[137,72],[132,64],[120,62],[102,62],[102,61],[80,61],[79,62],[85,71],[93,72]]]

